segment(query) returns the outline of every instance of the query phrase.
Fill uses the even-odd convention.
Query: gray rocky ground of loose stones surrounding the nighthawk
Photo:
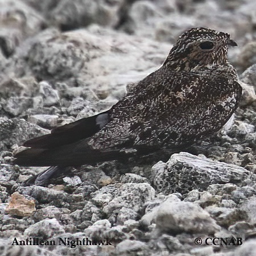
[[[255,255],[254,1],[0,0],[0,24],[1,255]],[[194,26],[238,43],[244,94],[225,129],[186,152],[22,186],[44,168],[13,166],[13,150],[110,108]]]

